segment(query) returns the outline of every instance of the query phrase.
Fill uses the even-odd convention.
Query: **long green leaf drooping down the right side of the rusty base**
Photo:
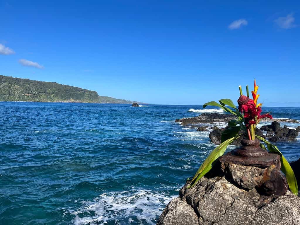
[[[289,184],[289,189],[292,191],[293,194],[298,195],[297,180],[294,171],[292,170],[292,167],[289,165],[289,162],[284,158],[284,156],[276,146],[272,145],[270,142],[268,142],[262,137],[259,137],[257,135],[255,135],[255,137],[267,144],[269,152],[274,152],[280,155],[281,171],[286,176],[287,183]]]

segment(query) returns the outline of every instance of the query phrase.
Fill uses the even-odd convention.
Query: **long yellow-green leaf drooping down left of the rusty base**
[[[238,137],[240,137],[240,135],[224,141],[219,146],[217,146],[214,150],[212,150],[212,152],[208,155],[208,157],[205,159],[205,161],[197,170],[195,176],[193,177],[192,182],[187,188],[193,187],[197,183],[197,181],[199,181],[206,173],[208,173],[208,171],[211,170],[213,162],[221,155],[223,155],[224,152],[226,151],[227,146]]]

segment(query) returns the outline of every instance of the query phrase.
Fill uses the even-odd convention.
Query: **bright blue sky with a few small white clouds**
[[[299,1],[0,1],[0,74],[150,104],[300,107]]]

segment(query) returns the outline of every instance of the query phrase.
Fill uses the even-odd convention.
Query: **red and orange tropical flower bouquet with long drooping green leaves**
[[[249,98],[248,85],[246,86],[247,96],[243,95],[242,88],[239,86],[240,97],[238,98],[238,107],[230,99],[220,99],[217,103],[211,101],[205,103],[203,108],[207,106],[216,106],[222,108],[225,112],[231,113],[237,117],[237,119],[228,122],[228,128],[222,133],[221,144],[217,146],[205,159],[202,165],[197,170],[195,176],[192,178],[190,185],[187,188],[193,187],[196,182],[201,179],[209,170],[211,170],[213,163],[224,154],[228,145],[230,145],[234,140],[244,136],[247,140],[259,139],[262,143],[267,145],[268,151],[270,153],[275,153],[280,155],[281,171],[285,174],[289,189],[295,195],[298,194],[298,185],[295,178],[295,174],[290,167],[288,161],[283,157],[279,149],[273,144],[269,143],[262,137],[255,135],[255,129],[257,124],[263,118],[270,118],[272,116],[270,113],[261,114],[262,109],[261,103],[257,103],[259,95],[257,94],[258,85],[254,80],[254,90],[251,91],[253,99]],[[241,132],[242,131],[242,132]],[[262,149],[266,149],[264,144],[260,143]]]

